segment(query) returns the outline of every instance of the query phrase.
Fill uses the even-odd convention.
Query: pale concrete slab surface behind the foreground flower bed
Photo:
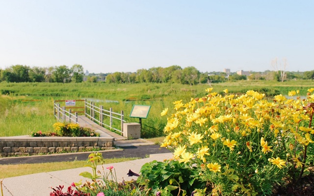
[[[138,159],[133,161],[105,164],[103,168],[105,172],[109,166],[113,166],[117,179],[119,182],[122,180],[136,179],[136,176],[128,177],[129,170],[139,173],[141,167],[153,160],[163,161],[172,157],[172,153],[151,154],[149,158]],[[97,168],[103,171],[102,167]],[[55,188],[59,185],[64,185],[63,191],[66,192],[67,188],[71,186],[72,182],[82,180],[85,182],[87,178],[79,175],[81,172],[92,172],[91,168],[77,168],[56,172],[44,172],[30,175],[23,175],[3,179],[3,196],[49,196],[52,192],[51,187]],[[103,172],[102,172],[103,173]]]

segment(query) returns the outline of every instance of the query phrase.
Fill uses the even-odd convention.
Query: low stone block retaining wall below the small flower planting
[[[0,138],[0,157],[113,149],[113,141],[103,137]]]

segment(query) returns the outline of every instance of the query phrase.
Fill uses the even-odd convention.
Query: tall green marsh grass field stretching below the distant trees
[[[213,91],[223,94],[241,94],[255,90],[266,94],[287,95],[288,91],[300,90],[300,96],[306,96],[307,90],[314,87],[313,80],[277,81],[236,81],[211,84]],[[82,99],[95,101],[104,109],[113,108],[114,112],[124,111],[125,120],[129,118],[133,104],[151,105],[147,119],[142,120],[143,138],[162,136],[166,118],[160,112],[168,107],[172,112],[173,102],[182,99],[200,98],[206,95],[209,85],[183,85],[172,83],[107,84],[107,83],[0,83],[0,137],[29,135],[34,131],[52,130],[56,122],[53,117],[53,100]],[[35,101],[34,101],[35,100]],[[111,101],[108,101],[111,100]],[[114,100],[115,102],[112,102]]]

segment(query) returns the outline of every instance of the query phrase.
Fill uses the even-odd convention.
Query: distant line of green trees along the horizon
[[[251,72],[250,75],[236,73],[206,72],[201,73],[195,67],[181,68],[178,65],[170,67],[153,67],[140,69],[135,73],[90,73],[84,79],[84,70],[81,65],[75,64],[71,68],[66,65],[41,68],[23,65],[13,65],[4,70],[0,69],[0,82],[98,82],[107,83],[181,83],[195,85],[199,83],[218,83],[228,80],[277,80],[286,81],[293,79],[314,79],[314,71],[285,72],[280,71]]]

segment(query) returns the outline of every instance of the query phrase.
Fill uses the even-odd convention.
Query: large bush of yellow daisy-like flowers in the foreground
[[[298,91],[272,101],[264,94],[219,95],[174,102],[162,147],[187,164],[212,195],[270,195],[283,180],[296,184],[312,163],[314,88],[307,98]],[[201,191],[197,191],[201,195]],[[203,190],[204,193],[204,190]]]

